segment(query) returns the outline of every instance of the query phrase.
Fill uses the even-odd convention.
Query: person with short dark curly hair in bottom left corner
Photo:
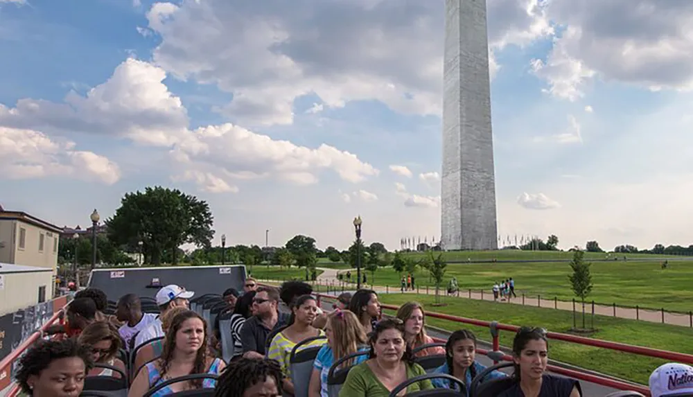
[[[40,340],[19,358],[15,379],[28,396],[79,396],[93,366],[89,347],[75,339]]]

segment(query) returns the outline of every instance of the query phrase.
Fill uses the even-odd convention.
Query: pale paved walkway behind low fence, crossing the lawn
[[[322,270],[323,273],[317,276],[317,282],[322,285],[331,285],[335,286],[338,288],[341,288],[342,283],[344,284],[345,289],[356,289],[356,283],[344,283],[343,281],[340,281],[337,279],[337,272],[347,272],[347,269],[328,269],[325,267],[318,267],[319,270]],[[351,274],[352,278],[355,278],[356,274],[356,269],[351,269]],[[394,293],[394,292],[400,292],[399,289],[395,288],[387,288],[387,287],[382,287],[379,285],[376,285],[375,287],[369,285],[369,287],[373,288],[376,292],[378,293]],[[412,291],[410,291],[412,292]],[[417,294],[430,294],[430,295],[435,295],[435,288],[428,288],[428,291],[426,288],[419,288],[419,290],[416,291]],[[441,289],[441,294],[445,294],[446,291]],[[466,299],[477,299],[477,300],[484,300],[484,301],[493,301],[493,293],[491,291],[489,292],[474,292],[472,291],[471,293],[467,291],[460,291],[457,294],[455,294],[456,297],[460,298],[466,298]],[[509,299],[508,301],[498,301],[498,304],[518,304],[518,305],[525,305],[525,306],[534,306],[534,307],[541,307],[541,308],[554,308],[558,310],[568,310],[572,311],[572,302],[567,302],[567,301],[554,301],[553,299],[538,299],[538,297],[525,297],[524,303],[523,303],[523,298],[517,297],[517,298],[512,298]],[[581,312],[582,308],[580,303],[575,303],[575,310],[577,312]],[[585,303],[585,312],[591,312],[592,307],[591,303]],[[609,316],[609,317],[620,317],[623,319],[639,319],[642,321],[650,321],[653,323],[665,323],[665,324],[672,324],[676,326],[691,326],[690,324],[690,316],[689,315],[683,315],[683,314],[678,314],[678,313],[670,313],[670,312],[664,312],[664,315],[660,310],[645,310],[645,309],[639,309],[635,310],[634,308],[620,308],[618,306],[603,306],[603,305],[598,305],[595,304],[595,315],[603,315],[603,316]]]

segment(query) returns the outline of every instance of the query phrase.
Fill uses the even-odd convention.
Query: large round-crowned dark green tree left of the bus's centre
[[[212,223],[207,202],[161,186],[125,194],[115,215],[106,220],[112,242],[134,248],[142,241],[145,257],[155,265],[164,251],[172,253],[175,265],[178,247],[184,244],[211,247]]]

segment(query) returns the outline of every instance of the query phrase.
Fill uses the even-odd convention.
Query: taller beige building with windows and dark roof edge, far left
[[[0,263],[58,269],[58,244],[62,229],[28,213],[0,207]],[[48,290],[53,297],[53,285]]]

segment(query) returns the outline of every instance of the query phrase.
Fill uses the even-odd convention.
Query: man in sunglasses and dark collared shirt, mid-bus
[[[273,330],[288,324],[290,316],[279,313],[279,290],[260,287],[253,298],[253,317],[240,328],[240,344],[243,357],[264,358],[267,337]]]

